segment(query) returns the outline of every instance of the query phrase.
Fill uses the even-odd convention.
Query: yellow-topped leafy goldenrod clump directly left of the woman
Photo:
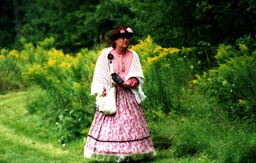
[[[37,60],[41,62],[46,59],[47,62],[35,64],[28,72],[23,73],[23,76],[46,91],[44,96],[48,97],[43,99],[48,101],[50,98],[53,104],[51,107],[36,107],[36,109],[45,111],[45,116],[49,115],[46,117],[58,124],[60,141],[66,143],[81,135],[81,132],[92,122],[95,101],[90,96],[90,85],[97,54],[82,49],[81,52],[76,53],[76,57],[72,57],[51,48],[45,50],[44,55],[41,56],[42,59],[38,57]],[[40,104],[41,100],[33,101],[29,110],[35,111],[34,106]]]

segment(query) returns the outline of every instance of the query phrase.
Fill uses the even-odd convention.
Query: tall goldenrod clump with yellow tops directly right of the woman
[[[184,87],[199,66],[195,60],[189,60],[195,49],[162,48],[150,36],[131,49],[140,55],[145,75],[145,108],[160,109],[166,115],[172,110],[180,111]]]

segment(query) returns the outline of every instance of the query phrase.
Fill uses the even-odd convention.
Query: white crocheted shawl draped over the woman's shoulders
[[[108,61],[108,53],[113,50],[112,47],[105,48],[99,55],[99,58],[96,62],[93,81],[91,86],[91,94],[102,94],[103,87],[106,89],[110,89],[111,86],[111,76],[109,74],[109,61]],[[125,81],[127,81],[131,77],[136,77],[140,81],[140,85],[136,88],[131,88],[132,92],[136,97],[136,101],[140,104],[146,96],[142,91],[144,76],[141,69],[140,58],[138,54],[131,50],[133,53],[132,64],[127,74]],[[96,102],[97,103],[97,102]]]

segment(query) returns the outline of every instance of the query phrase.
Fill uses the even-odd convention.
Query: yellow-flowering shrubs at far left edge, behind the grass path
[[[0,92],[20,90],[31,86],[31,83],[22,78],[22,73],[28,71],[31,64],[43,64],[47,60],[47,50],[54,44],[53,38],[45,38],[38,42],[38,46],[26,43],[21,38],[22,50],[1,49],[0,53]]]

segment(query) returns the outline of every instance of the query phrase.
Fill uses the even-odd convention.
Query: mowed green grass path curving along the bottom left
[[[26,92],[0,96],[0,162],[95,162],[84,159],[83,139],[67,146],[58,143],[54,124],[26,110]],[[198,162],[194,157],[173,158],[157,150],[152,160],[142,162]]]

